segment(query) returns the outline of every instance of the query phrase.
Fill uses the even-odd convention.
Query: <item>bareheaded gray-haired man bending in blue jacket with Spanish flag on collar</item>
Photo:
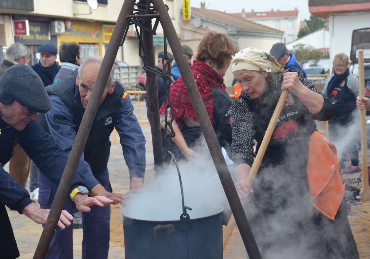
[[[69,154],[80,127],[82,117],[89,102],[92,88],[97,79],[102,57],[84,58],[80,68],[58,84],[46,87],[51,98],[51,110],[46,113],[46,121],[51,135]],[[134,107],[122,85],[114,80],[111,70],[102,94],[84,154],[80,163],[84,164],[83,180],[87,188],[95,190],[99,185],[103,191],[112,192],[109,181],[108,159],[111,142],[109,137],[113,128],[120,136],[122,152],[130,174],[130,192],[137,191],[144,184],[145,138],[135,115]],[[98,188],[98,189],[99,189]],[[42,208],[50,208],[56,188],[43,179],[40,180],[39,201]],[[45,201],[45,203],[44,203]],[[96,206],[95,206],[96,207]],[[82,258],[108,258],[110,239],[110,206],[91,208],[90,213],[83,213],[84,231]],[[73,203],[66,202],[64,209],[72,213]],[[47,258],[73,258],[73,229],[58,229],[51,242]],[[63,251],[63,253],[61,253]]]

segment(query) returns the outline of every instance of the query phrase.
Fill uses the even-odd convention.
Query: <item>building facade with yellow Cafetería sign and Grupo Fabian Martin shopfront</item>
[[[63,42],[76,42],[81,46],[82,58],[92,54],[104,56],[114,25],[124,0],[2,0],[0,1],[0,44],[3,52],[15,42],[31,49],[30,65],[38,62],[38,47],[53,44],[59,48]],[[178,1],[166,0],[169,14],[178,26]],[[27,24],[24,30],[17,28]],[[16,30],[17,29],[17,30]],[[23,33],[19,34],[21,31]],[[157,30],[156,51],[163,50],[163,30]],[[162,39],[162,40],[161,40]],[[158,49],[158,50],[157,50]],[[134,26],[130,26],[124,45],[116,60],[129,65],[140,65],[138,40]]]

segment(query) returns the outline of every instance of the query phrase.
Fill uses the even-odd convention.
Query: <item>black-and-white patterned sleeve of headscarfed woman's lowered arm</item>
[[[252,113],[247,100],[250,98],[242,91],[241,97],[235,100],[229,112],[232,116],[232,160],[235,164],[252,166],[255,154],[253,139],[255,131],[252,129]]]

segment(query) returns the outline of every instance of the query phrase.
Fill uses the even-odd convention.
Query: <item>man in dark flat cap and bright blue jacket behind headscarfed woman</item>
[[[279,62],[285,70],[301,70],[305,77],[307,77],[305,69],[296,60],[296,55],[294,53],[289,53],[284,43],[279,42],[273,44],[270,54],[276,58],[277,62]]]

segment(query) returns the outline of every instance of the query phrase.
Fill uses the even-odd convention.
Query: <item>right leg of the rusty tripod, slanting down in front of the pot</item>
[[[250,229],[248,219],[243,210],[242,203],[240,202],[229,169],[226,165],[225,159],[223,158],[215,131],[213,130],[211,121],[209,120],[198,87],[196,87],[196,83],[191,73],[188,62],[186,61],[184,51],[182,50],[181,44],[177,38],[172,20],[169,17],[169,14],[162,0],[152,0],[152,2],[156,10],[159,12],[159,20],[162,24],[164,34],[167,36],[168,43],[171,46],[171,50],[173,51],[173,54],[175,56],[176,63],[178,64],[182,78],[184,79],[186,90],[188,91],[196,116],[198,117],[199,124],[201,125],[203,135],[207,142],[209,151],[211,152],[213,162],[215,163],[232,213],[235,216],[235,221],[238,225],[240,235],[242,236],[249,258],[261,258],[259,249],[252,234],[252,230]]]

